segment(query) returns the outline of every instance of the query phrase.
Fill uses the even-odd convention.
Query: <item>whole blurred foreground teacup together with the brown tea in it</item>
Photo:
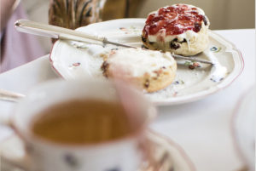
[[[56,80],[34,88],[12,124],[29,170],[135,171],[155,108],[125,83]]]

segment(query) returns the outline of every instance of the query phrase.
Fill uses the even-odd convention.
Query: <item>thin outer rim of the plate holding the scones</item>
[[[120,22],[120,21],[125,21],[125,22],[143,22],[146,19],[143,18],[126,18],[126,19],[117,19],[117,20],[107,20],[107,21],[102,21],[102,22],[98,22],[98,23],[93,23],[90,24],[88,26],[81,26],[79,28],[77,28],[76,30],[80,30],[84,27],[90,27],[90,26],[96,26],[96,25],[102,25],[102,24],[108,24],[108,23],[116,23],[116,22]],[[225,44],[230,44],[230,49],[232,50],[232,59],[234,60],[234,69],[230,72],[228,77],[225,77],[224,81],[225,82],[220,82],[218,84],[216,84],[215,86],[213,86],[211,89],[205,89],[202,90],[200,92],[197,92],[195,94],[189,94],[189,95],[183,95],[183,96],[177,96],[177,97],[173,97],[170,98],[168,100],[151,100],[154,105],[158,105],[158,106],[165,106],[165,105],[181,105],[181,104],[186,104],[186,103],[190,103],[190,102],[194,102],[197,100],[201,100],[206,98],[207,96],[210,96],[211,94],[215,94],[218,93],[218,91],[223,90],[224,88],[229,87],[232,83],[234,83],[234,81],[236,80],[237,77],[239,77],[241,75],[241,72],[244,69],[244,59],[242,57],[241,51],[236,48],[236,45],[234,43],[231,43],[230,41],[226,40],[224,37],[220,36],[218,33],[216,33],[215,31],[209,30],[210,34],[213,34],[215,37],[218,37],[219,40],[221,40],[221,42],[224,42]],[[52,66],[52,68],[55,70],[55,72],[61,76],[62,78],[66,79],[60,71],[58,71],[55,67],[54,61],[52,60],[52,54],[53,51],[55,50],[55,47],[57,44],[61,43],[61,40],[57,40],[55,41],[55,43],[53,44],[50,53],[49,53],[49,61],[50,61],[50,65]],[[237,57],[234,59],[234,52],[236,52]],[[237,64],[236,60],[239,60],[239,63]],[[228,79],[228,81],[226,81]]]

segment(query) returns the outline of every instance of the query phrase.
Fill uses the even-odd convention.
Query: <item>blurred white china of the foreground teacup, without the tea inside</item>
[[[55,116],[48,109],[76,100],[122,105],[131,129],[115,139],[108,137],[96,142],[85,140],[79,143],[73,140],[68,143],[65,140],[56,141],[55,138],[47,139],[43,134],[35,134],[33,125],[44,121],[49,114]],[[86,105],[84,106],[86,109]],[[62,107],[66,109],[65,105]],[[145,154],[145,148],[142,147],[144,133],[155,114],[154,106],[143,94],[125,83],[92,79],[55,80],[33,88],[26,98],[20,100],[15,107],[11,124],[26,145],[30,160],[30,164],[26,166],[28,170],[135,171]],[[57,128],[51,130],[54,129],[57,131]]]

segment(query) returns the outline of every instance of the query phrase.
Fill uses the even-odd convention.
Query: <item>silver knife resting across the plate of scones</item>
[[[29,34],[35,34],[43,37],[74,40],[74,41],[84,42],[84,43],[95,43],[95,44],[101,44],[102,46],[106,44],[113,44],[115,46],[122,46],[125,48],[136,48],[126,44],[114,43],[114,42],[108,41],[106,37],[92,36],[82,31],[75,31],[75,30],[63,28],[60,26],[46,25],[43,23],[31,21],[31,20],[17,20],[15,22],[15,27],[18,31],[26,32]],[[199,60],[192,57],[185,57],[177,54],[172,54],[172,56],[177,59],[197,61],[197,62],[213,65],[213,63],[208,60]]]

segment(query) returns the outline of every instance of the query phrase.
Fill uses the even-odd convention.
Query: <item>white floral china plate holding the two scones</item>
[[[78,31],[88,32],[108,40],[141,47],[141,33],[145,19],[109,20],[80,27]],[[189,69],[185,60],[177,60],[175,81],[165,89],[146,94],[157,105],[175,105],[200,100],[209,94],[225,88],[238,77],[243,69],[243,59],[236,47],[209,31],[208,48],[196,58],[211,60],[216,65],[204,65]],[[65,79],[81,77],[102,77],[100,54],[114,47],[58,40],[51,51],[53,68]]]

